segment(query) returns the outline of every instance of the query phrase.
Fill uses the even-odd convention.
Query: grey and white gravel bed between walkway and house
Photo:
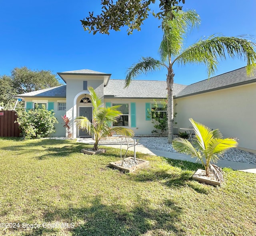
[[[177,153],[172,144],[167,143],[167,137],[136,137],[139,140],[138,147],[146,147],[149,149],[156,149],[161,151],[167,151],[172,153]],[[133,144],[133,139],[130,139],[130,144]],[[120,144],[121,138],[110,138],[106,140],[102,140],[101,144]],[[123,139],[123,144],[125,143],[125,139]],[[246,151],[242,151],[237,148],[232,148],[226,151],[224,157],[220,158],[221,160],[227,161],[236,161],[248,164],[256,164],[256,154],[249,153]]]

